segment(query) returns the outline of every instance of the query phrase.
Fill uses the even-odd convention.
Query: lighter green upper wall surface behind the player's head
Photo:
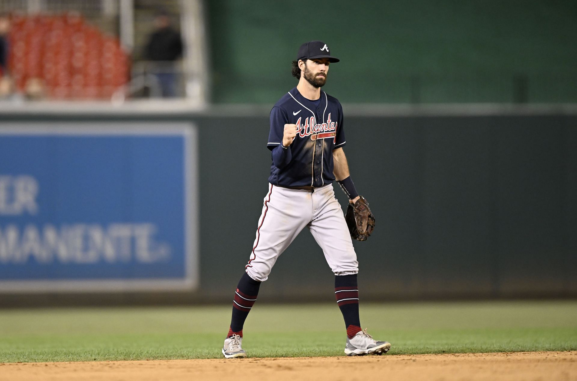
[[[268,103],[301,43],[343,102],[575,102],[575,1],[211,0],[212,100]],[[337,95],[338,94],[338,95]]]

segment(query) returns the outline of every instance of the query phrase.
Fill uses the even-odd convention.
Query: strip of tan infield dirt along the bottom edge
[[[577,380],[577,352],[0,364],[2,380]]]

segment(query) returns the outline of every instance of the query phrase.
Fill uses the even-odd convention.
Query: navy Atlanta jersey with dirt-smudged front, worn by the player
[[[343,108],[339,101],[321,90],[315,105],[298,92],[297,87],[285,94],[271,110],[269,150],[290,150],[286,165],[271,165],[271,184],[323,186],[335,180],[332,151],[344,146]],[[299,133],[287,148],[282,147],[284,124],[296,124]]]

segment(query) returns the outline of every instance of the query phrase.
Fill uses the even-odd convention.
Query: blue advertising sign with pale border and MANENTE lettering
[[[188,123],[0,125],[0,292],[194,289]]]

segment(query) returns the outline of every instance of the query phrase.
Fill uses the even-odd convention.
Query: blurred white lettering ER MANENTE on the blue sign
[[[38,213],[38,181],[32,176],[0,176],[0,215],[18,216]],[[39,263],[166,261],[170,246],[156,242],[158,227],[153,223],[100,224],[69,223],[15,224],[0,227],[0,262]]]

